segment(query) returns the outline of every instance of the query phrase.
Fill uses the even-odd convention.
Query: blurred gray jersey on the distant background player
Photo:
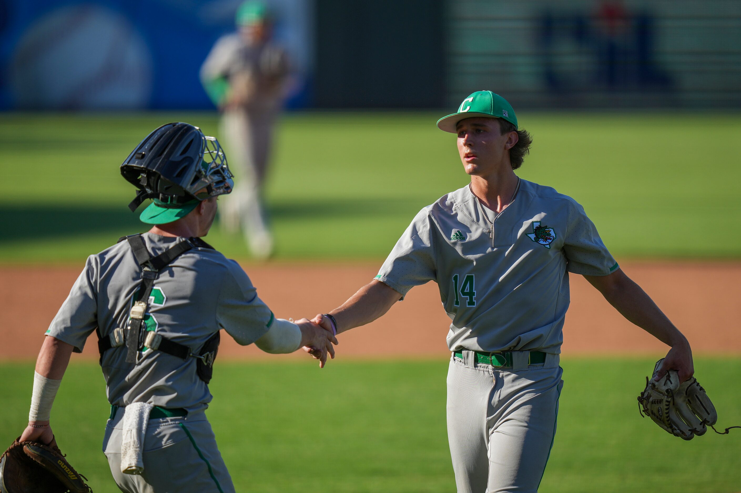
[[[288,55],[282,47],[268,41],[249,44],[239,33],[219,38],[201,67],[202,81],[224,77],[230,86],[250,93],[246,110],[274,113],[282,104],[282,84],[288,76]],[[234,89],[234,88],[233,88]]]

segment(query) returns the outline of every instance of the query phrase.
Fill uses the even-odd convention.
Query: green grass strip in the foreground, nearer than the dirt
[[[638,414],[653,360],[568,358],[541,492],[737,492],[741,430],[685,442]],[[445,360],[217,363],[208,416],[238,492],[452,492]],[[697,358],[721,426],[741,424],[741,359]],[[21,432],[31,363],[0,364],[0,443]],[[95,363],[64,377],[52,425],[96,493],[118,491],[101,452]]]

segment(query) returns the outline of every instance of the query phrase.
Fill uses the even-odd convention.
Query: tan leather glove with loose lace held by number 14
[[[657,425],[661,426],[671,435],[682,437],[684,440],[692,440],[695,435],[705,435],[707,426],[713,428],[718,420],[718,413],[711,402],[705,389],[700,386],[697,378],[688,378],[679,383],[679,375],[675,370],[668,370],[657,382],[654,380],[664,358],[657,361],[654,366],[654,375],[646,377],[646,386],[641,395],[638,396],[638,409],[641,415],[645,413]],[[740,426],[731,426],[740,428]],[[725,432],[714,432],[725,435]]]

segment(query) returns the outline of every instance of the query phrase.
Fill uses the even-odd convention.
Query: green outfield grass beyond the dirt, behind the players
[[[420,208],[467,183],[438,117],[286,115],[267,188],[277,258],[384,258]],[[79,263],[142,231],[118,167],[173,120],[218,135],[214,113],[1,114],[0,262]],[[740,115],[522,111],[520,122],[534,147],[519,174],[582,203],[617,257],[741,256]],[[247,258],[239,235],[208,239]]]

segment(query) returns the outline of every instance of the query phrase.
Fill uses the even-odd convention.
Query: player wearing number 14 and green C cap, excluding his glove
[[[458,491],[536,492],[556,433],[569,272],[671,346],[657,380],[668,369],[691,377],[690,346],[622,272],[582,206],[515,174],[531,137],[505,98],[477,91],[437,126],[457,135],[471,183],[422,209],[376,278],[313,321],[345,332],[435,281],[452,321],[448,440]]]

